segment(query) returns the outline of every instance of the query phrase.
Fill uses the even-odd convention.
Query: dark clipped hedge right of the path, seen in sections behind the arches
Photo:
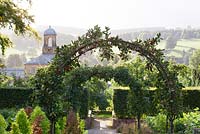
[[[156,109],[156,103],[154,96],[156,90],[146,90],[150,101],[149,115],[155,115],[158,111]],[[129,90],[114,89],[113,106],[117,118],[127,118],[130,116],[128,110],[128,93]],[[200,90],[183,90],[183,107],[185,110],[193,110],[194,108],[200,108]]]

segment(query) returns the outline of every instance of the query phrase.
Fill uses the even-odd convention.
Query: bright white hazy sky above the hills
[[[200,27],[200,0],[32,0],[36,25]]]

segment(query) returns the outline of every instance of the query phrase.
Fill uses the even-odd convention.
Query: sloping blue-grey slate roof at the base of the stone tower
[[[42,54],[39,57],[33,58],[26,62],[25,65],[47,65],[52,61],[54,54]]]

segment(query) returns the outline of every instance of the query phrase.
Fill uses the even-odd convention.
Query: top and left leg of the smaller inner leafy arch
[[[129,70],[125,67],[80,67],[65,74],[63,87],[66,95],[64,98],[74,110],[82,110],[80,113],[83,114],[83,118],[87,117],[88,107],[85,104],[87,103],[87,92],[83,89],[82,84],[92,77],[106,81],[114,79],[120,85],[129,87],[132,87],[135,82],[134,77],[129,74]],[[80,116],[82,115],[80,114]]]

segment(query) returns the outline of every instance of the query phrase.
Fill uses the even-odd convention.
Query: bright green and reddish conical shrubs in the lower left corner
[[[0,111],[1,134],[49,134],[50,121],[40,107],[27,107],[9,113],[6,109]],[[5,115],[7,114],[7,115]],[[4,116],[5,115],[5,118]],[[68,116],[59,118],[55,125],[56,134],[80,134],[85,132],[85,122],[75,112],[69,111]]]

